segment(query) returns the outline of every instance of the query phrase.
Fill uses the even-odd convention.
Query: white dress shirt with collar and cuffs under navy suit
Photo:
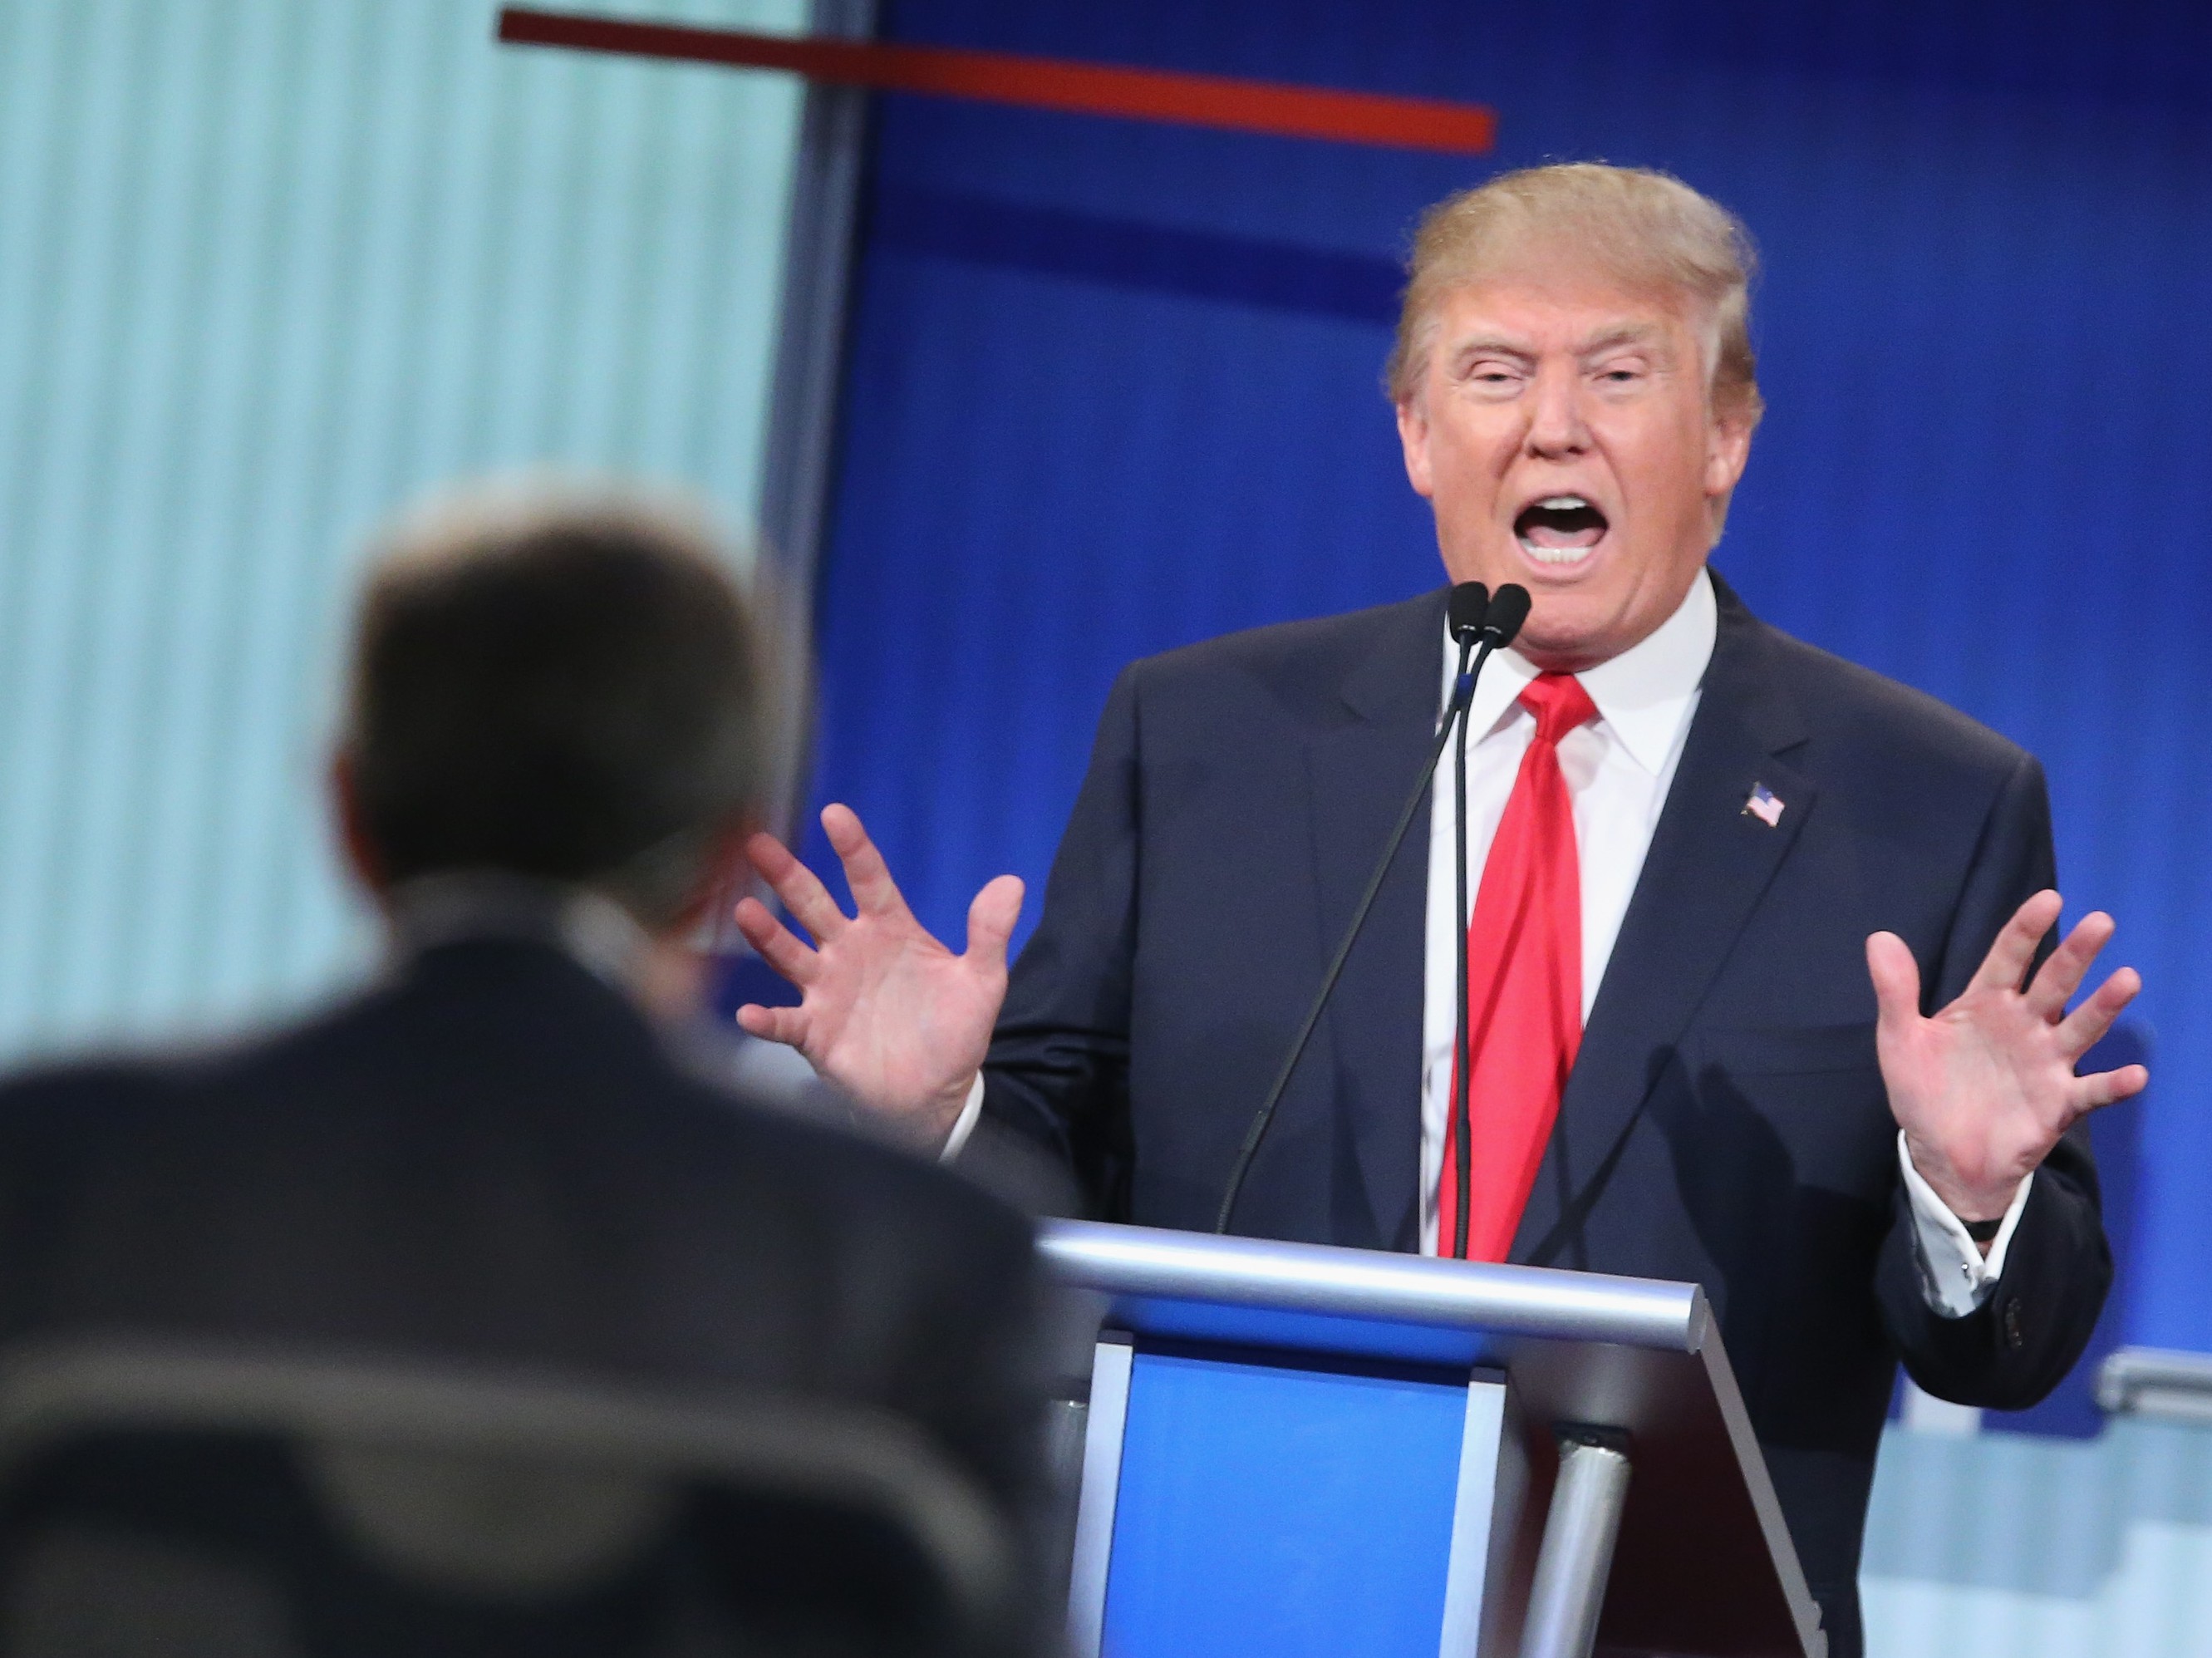
[[[1597,987],[1613,958],[1613,941],[1628,914],[1628,899],[1644,872],[1659,810],[1666,806],[1674,766],[1690,735],[1699,686],[1719,633],[1719,602],[1712,580],[1699,571],[1690,593],[1648,640],[1610,662],[1577,675],[1597,704],[1597,719],[1559,739],[1559,770],[1575,804],[1575,848],[1582,868],[1582,1016],[1588,1020]],[[1444,638],[1444,664],[1438,706],[1451,695],[1458,649]],[[1535,717],[1517,697],[1537,671],[1517,653],[1500,651],[1482,671],[1469,706],[1467,744],[1467,899],[1473,903],[1482,883],[1482,863],[1504,817],[1522,753],[1535,733]],[[1436,1253],[1436,1189],[1444,1162],[1444,1118],[1451,1109],[1451,1043],[1458,1032],[1453,1001],[1458,996],[1458,932],[1467,919],[1453,921],[1458,879],[1453,874],[1453,790],[1451,755],[1438,770],[1429,808],[1429,925],[1422,956],[1422,1087],[1420,1087],[1420,1251]],[[969,1089],[967,1107],[945,1142],[953,1158],[975,1131],[982,1116],[982,1078]],[[1898,1136],[1898,1162],[1918,1222],[1922,1288],[1929,1306],[1949,1317],[1964,1317],[1989,1299],[2004,1271],[2004,1251],[2020,1211],[2026,1206],[2028,1180],[2020,1184],[1997,1240],[1982,1257],[1936,1191],[1913,1169]]]

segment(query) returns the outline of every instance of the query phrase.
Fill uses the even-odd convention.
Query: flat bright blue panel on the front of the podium
[[[1104,1651],[1436,1658],[1464,1432],[1464,1368],[1139,1346]]]

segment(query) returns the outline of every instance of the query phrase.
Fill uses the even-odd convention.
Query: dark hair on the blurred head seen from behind
[[[380,874],[500,870],[681,919],[759,804],[765,677],[714,536],[668,505],[511,487],[403,522],[343,737]]]

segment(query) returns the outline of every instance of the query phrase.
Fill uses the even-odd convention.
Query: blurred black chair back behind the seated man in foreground
[[[0,1361],[4,1658],[1004,1658],[998,1514],[794,1399],[146,1344]]]

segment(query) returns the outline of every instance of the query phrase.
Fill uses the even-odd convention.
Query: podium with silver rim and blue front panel
[[[1694,1284],[1046,1222],[1075,1658],[1825,1658]]]

